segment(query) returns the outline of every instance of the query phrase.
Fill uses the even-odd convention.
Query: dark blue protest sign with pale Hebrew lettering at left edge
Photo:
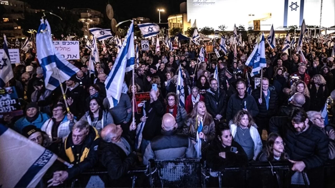
[[[15,87],[0,89],[0,118],[5,115],[12,117],[23,114]]]

